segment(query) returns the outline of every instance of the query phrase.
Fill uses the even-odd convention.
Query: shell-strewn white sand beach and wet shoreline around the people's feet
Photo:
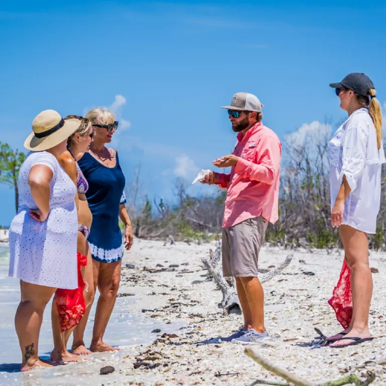
[[[233,343],[196,344],[210,338],[227,336],[242,324],[241,315],[223,316],[217,306],[222,294],[216,289],[214,281],[191,284],[192,281],[206,279],[207,271],[203,269],[201,257],[206,256],[210,248],[214,250],[215,246],[214,242],[164,246],[161,241],[135,240],[132,250],[124,257],[120,297],[105,336],[107,343],[122,348],[120,352],[94,354],[82,362],[46,370],[37,369],[25,374],[4,371],[17,368],[16,365],[6,366],[4,363],[20,363],[17,336],[12,331],[16,307],[14,304],[8,305],[9,315],[6,318],[3,312],[2,319],[7,319],[7,343],[11,345],[12,341],[12,347],[11,352],[3,352],[0,356],[1,370],[4,371],[0,373],[0,383],[246,385],[256,379],[280,381],[245,356],[245,346]],[[260,268],[279,264],[288,253],[278,248],[264,247]],[[360,376],[366,369],[376,373],[372,384],[386,384],[386,367],[374,363],[382,358],[386,348],[386,292],[383,285],[386,278],[385,257],[382,253],[370,255],[371,266],[379,270],[379,273],[373,274],[370,328],[375,339],[372,342],[344,349],[296,346],[297,343],[309,342],[317,336],[314,327],[320,328],[325,335],[341,331],[327,300],[339,277],[343,256],[336,252],[327,255],[323,251],[295,251],[291,264],[283,273],[263,285],[266,328],[270,337],[253,348],[281,368],[316,384],[351,372]],[[132,265],[127,267],[127,264]],[[170,265],[174,267],[168,271],[147,270],[161,270]],[[314,272],[315,275],[303,272]],[[17,306],[17,302],[15,304]],[[87,339],[91,328],[92,324],[89,323]],[[154,329],[161,331],[152,333]],[[164,333],[175,334],[176,337],[162,338]],[[4,331],[0,331],[0,334],[4,337]],[[46,313],[39,354],[47,355],[51,347],[50,334],[49,313]],[[140,361],[147,365],[134,368],[134,363]],[[356,369],[365,361],[369,361],[366,368]],[[115,371],[100,375],[100,368],[104,366],[114,366]],[[227,373],[234,375],[218,376]]]

